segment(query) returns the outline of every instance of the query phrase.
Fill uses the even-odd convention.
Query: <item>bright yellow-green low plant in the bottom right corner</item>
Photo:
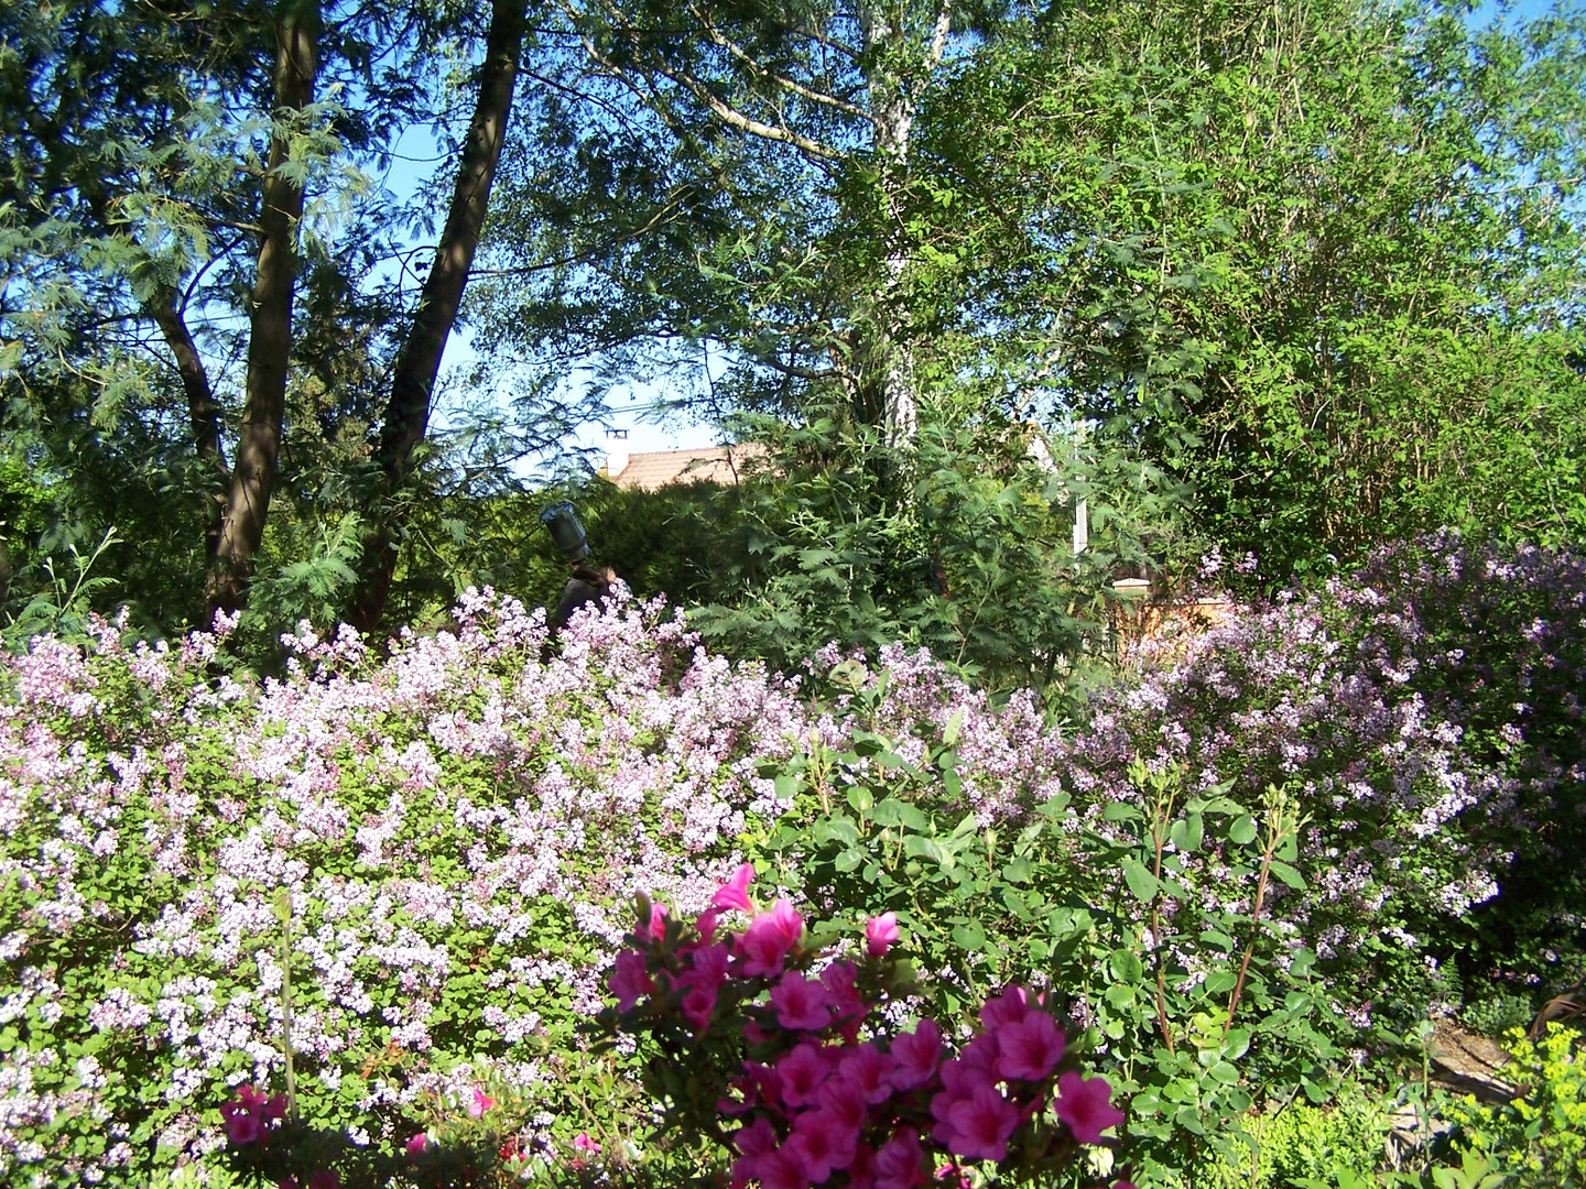
[[[1519,1184],[1586,1184],[1586,1038],[1550,1024],[1535,1045],[1511,1032],[1508,1049],[1505,1075],[1518,1095],[1499,1107],[1469,1095],[1453,1103],[1458,1143],[1491,1154]]]

